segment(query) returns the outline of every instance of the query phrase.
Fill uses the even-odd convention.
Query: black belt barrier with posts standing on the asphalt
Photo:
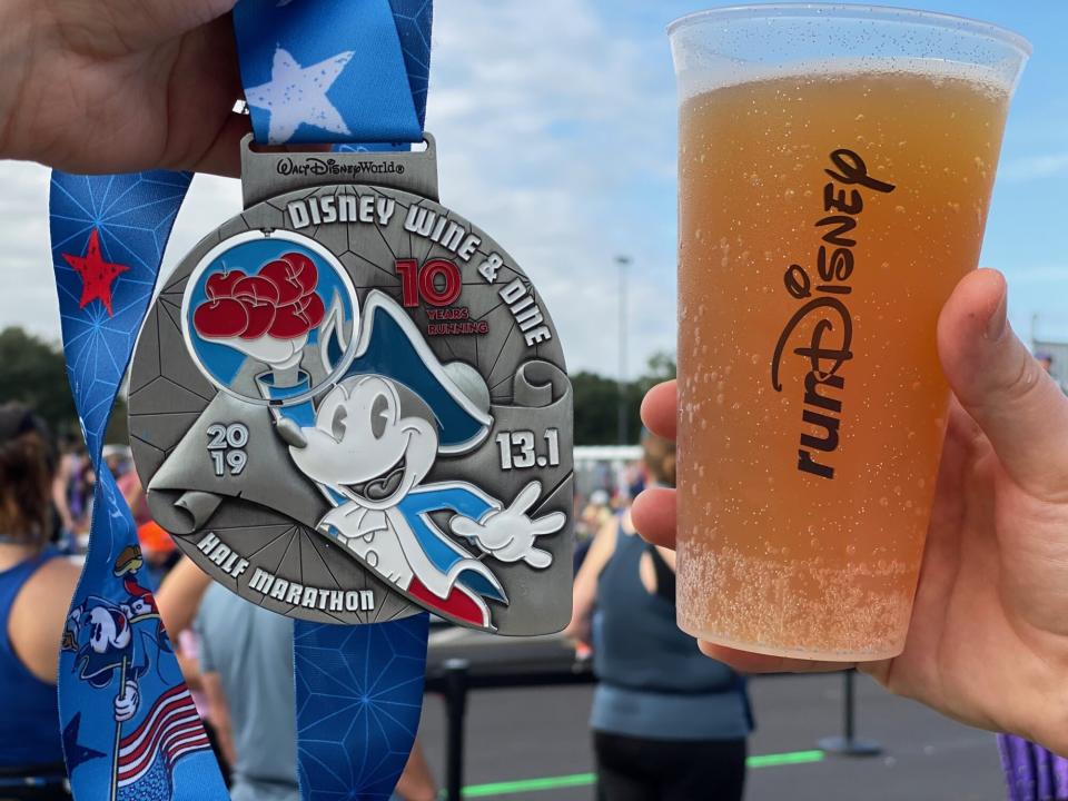
[[[525,663],[528,665],[530,663]],[[445,799],[462,801],[464,787],[464,719],[467,714],[467,693],[473,690],[505,690],[535,686],[563,686],[572,684],[593,684],[589,661],[563,663],[556,660],[542,660],[545,670],[531,670],[524,662],[472,661],[463,657],[446,659],[428,665],[426,691],[441,695],[445,701],[446,732],[445,743]],[[496,670],[490,670],[490,666]],[[772,674],[777,675],[777,674]],[[779,674],[781,675],[781,674]],[[822,675],[822,674],[813,674]],[[857,705],[853,678],[856,671],[843,671],[842,693],[842,734],[822,738],[821,750],[842,756],[871,756],[882,751],[871,740],[860,740],[856,733]],[[763,676],[760,676],[763,678]]]

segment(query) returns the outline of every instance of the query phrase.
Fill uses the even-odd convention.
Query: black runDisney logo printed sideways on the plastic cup
[[[823,243],[815,255],[815,274],[822,283],[813,287],[812,278],[800,265],[792,264],[787,269],[783,275],[787,291],[804,304],[787,323],[771,358],[771,385],[775,392],[782,392],[779,372],[787,344],[802,323],[814,320],[809,343],[794,348],[793,353],[807,359],[809,367],[804,376],[801,421],[822,431],[823,435],[801,434],[798,469],[821,478],[833,478],[834,467],[817,462],[818,453],[833,453],[839,444],[842,402],[831,390],[841,393],[844,389],[846,377],[839,375],[839,370],[853,358],[850,350],[853,319],[847,300],[853,290],[849,279],[857,266],[852,249],[857,240],[847,235],[857,228],[864,200],[858,189],[843,187],[859,186],[884,195],[896,189],[894,185],[868,175],[864,160],[852,150],[834,150],[830,159],[832,168],[823,171],[833,180],[823,187],[823,210],[832,214],[815,222]],[[821,387],[824,388],[822,393]]]

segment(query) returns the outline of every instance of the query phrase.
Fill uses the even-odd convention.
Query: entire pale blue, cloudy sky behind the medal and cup
[[[1035,47],[1013,99],[981,264],[1009,279],[1028,339],[1068,340],[1068,2],[884,1],[995,22]],[[675,89],[665,26],[682,0],[439,0],[427,130],[442,200],[526,270],[572,370],[619,373],[617,256],[629,376],[675,340]],[[48,170],[0,162],[0,327],[59,339]],[[236,180],[198,176],[164,263],[240,210]]]

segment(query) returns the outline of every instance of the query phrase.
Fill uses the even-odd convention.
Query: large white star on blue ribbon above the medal
[[[334,81],[352,60],[354,51],[338,53],[310,67],[301,67],[281,46],[275,50],[270,80],[245,92],[249,106],[270,112],[267,141],[284,145],[301,123],[352,136],[340,112],[326,97]]]

